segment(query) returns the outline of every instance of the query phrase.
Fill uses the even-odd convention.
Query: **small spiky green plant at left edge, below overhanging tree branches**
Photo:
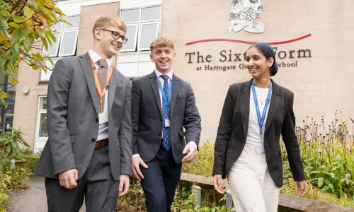
[[[29,145],[25,142],[25,140],[23,140],[23,132],[21,129],[13,129],[11,127],[11,130],[12,131],[6,131],[3,134],[0,134],[0,147],[4,148],[4,151],[8,154],[8,156],[17,156],[20,151],[18,144],[22,144],[27,147],[29,147]]]

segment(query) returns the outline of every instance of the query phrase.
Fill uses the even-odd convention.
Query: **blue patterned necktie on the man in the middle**
[[[164,88],[162,89],[162,95],[164,95],[164,99],[168,100],[169,99],[169,77],[167,75],[161,75],[161,77],[164,79]],[[169,151],[171,148],[171,134],[170,134],[170,128],[166,127],[165,125],[165,119],[170,119],[169,115],[169,107],[167,107],[166,103],[164,100],[162,101],[162,123],[164,124],[163,127],[163,133],[164,137],[162,139],[162,146],[166,149],[166,151]]]

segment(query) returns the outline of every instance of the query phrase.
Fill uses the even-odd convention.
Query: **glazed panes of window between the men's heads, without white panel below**
[[[161,6],[125,9],[120,17],[127,25],[128,39],[120,52],[149,50],[152,40],[159,36]]]

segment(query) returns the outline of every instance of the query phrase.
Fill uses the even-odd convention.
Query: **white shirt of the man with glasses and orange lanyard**
[[[98,61],[100,59],[102,59],[102,57],[100,55],[98,55],[96,52],[93,52],[93,50],[89,51],[89,55],[93,61],[93,63],[96,66],[96,70],[98,70],[99,64]],[[113,62],[113,58],[111,59],[105,59],[105,61],[107,61],[108,64],[108,70],[110,68],[110,65],[112,65]],[[95,86],[96,88],[96,86]],[[96,90],[96,89],[95,89]],[[97,91],[96,91],[97,92]],[[108,88],[105,91],[105,100],[104,100],[104,105],[103,105],[103,113],[108,113]],[[108,139],[108,122],[105,122],[103,124],[100,124],[98,126],[98,136],[97,136],[97,141],[101,141],[104,139]]]

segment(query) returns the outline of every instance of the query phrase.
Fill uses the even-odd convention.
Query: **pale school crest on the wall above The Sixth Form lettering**
[[[261,17],[264,4],[261,0],[232,0],[229,10],[229,27],[227,30],[231,35],[232,31],[245,30],[249,33],[263,33],[265,25],[256,18]]]

